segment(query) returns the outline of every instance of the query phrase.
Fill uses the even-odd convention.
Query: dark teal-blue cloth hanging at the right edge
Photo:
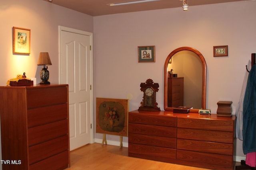
[[[250,70],[244,94],[242,133],[244,154],[256,152],[256,64]]]

